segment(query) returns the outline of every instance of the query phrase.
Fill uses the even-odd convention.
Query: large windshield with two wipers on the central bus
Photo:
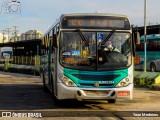
[[[131,65],[130,33],[115,31],[80,33],[62,32],[60,63],[63,67],[81,70],[113,70]]]

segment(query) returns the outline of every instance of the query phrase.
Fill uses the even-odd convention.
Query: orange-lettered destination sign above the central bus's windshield
[[[118,17],[84,17],[66,18],[62,22],[63,28],[99,28],[99,29],[130,29],[129,21],[126,18]]]

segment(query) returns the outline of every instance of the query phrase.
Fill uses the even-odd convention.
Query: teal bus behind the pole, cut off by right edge
[[[146,70],[160,71],[160,34],[146,36]],[[144,70],[144,35],[140,38],[140,44],[136,45],[137,63],[135,70]]]

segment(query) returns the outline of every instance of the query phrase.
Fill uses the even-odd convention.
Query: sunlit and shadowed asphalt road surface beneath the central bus
[[[51,94],[43,91],[39,76],[0,72],[0,111],[19,113],[19,117],[25,117],[17,118],[18,114],[15,114],[15,118],[5,117],[6,120],[158,120],[160,91],[134,88],[133,100],[118,99],[116,104],[108,104],[107,101],[66,100],[57,106]],[[35,118],[27,118],[31,116],[30,113],[35,113],[38,118],[36,115]],[[5,120],[4,117],[1,119]]]

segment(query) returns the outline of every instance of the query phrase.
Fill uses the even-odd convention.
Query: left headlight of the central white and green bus
[[[68,87],[76,87],[76,84],[71,79],[69,79],[68,77],[66,77],[63,74],[59,75],[59,79],[62,81],[62,83],[64,85],[66,85]]]

